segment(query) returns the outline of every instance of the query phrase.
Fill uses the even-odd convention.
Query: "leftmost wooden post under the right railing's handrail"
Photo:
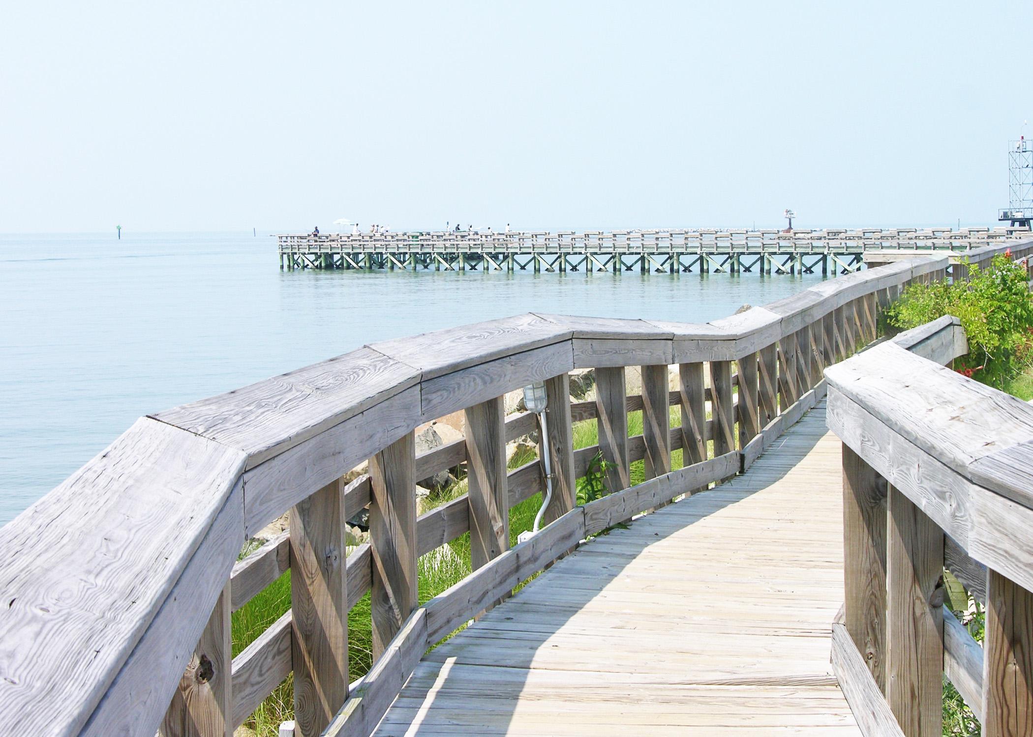
[[[846,630],[886,693],[886,482],[843,444]]]

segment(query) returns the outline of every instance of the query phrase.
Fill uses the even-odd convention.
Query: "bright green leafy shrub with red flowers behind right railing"
[[[987,268],[970,266],[968,282],[912,284],[888,309],[890,325],[917,327],[944,315],[962,321],[969,354],[956,366],[1002,388],[1033,359],[1033,302],[1026,268],[1010,254]]]

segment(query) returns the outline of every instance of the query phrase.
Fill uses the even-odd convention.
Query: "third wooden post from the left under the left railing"
[[[418,604],[413,432],[370,459],[370,611],[373,660],[387,647]]]

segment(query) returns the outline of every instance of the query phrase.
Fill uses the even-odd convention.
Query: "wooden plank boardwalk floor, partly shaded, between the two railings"
[[[860,734],[829,666],[840,448],[822,403],[746,474],[584,545],[425,655],[376,734]]]

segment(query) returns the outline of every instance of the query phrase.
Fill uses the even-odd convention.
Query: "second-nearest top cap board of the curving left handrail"
[[[370,409],[419,381],[372,348],[152,415],[248,454],[247,468]]]

